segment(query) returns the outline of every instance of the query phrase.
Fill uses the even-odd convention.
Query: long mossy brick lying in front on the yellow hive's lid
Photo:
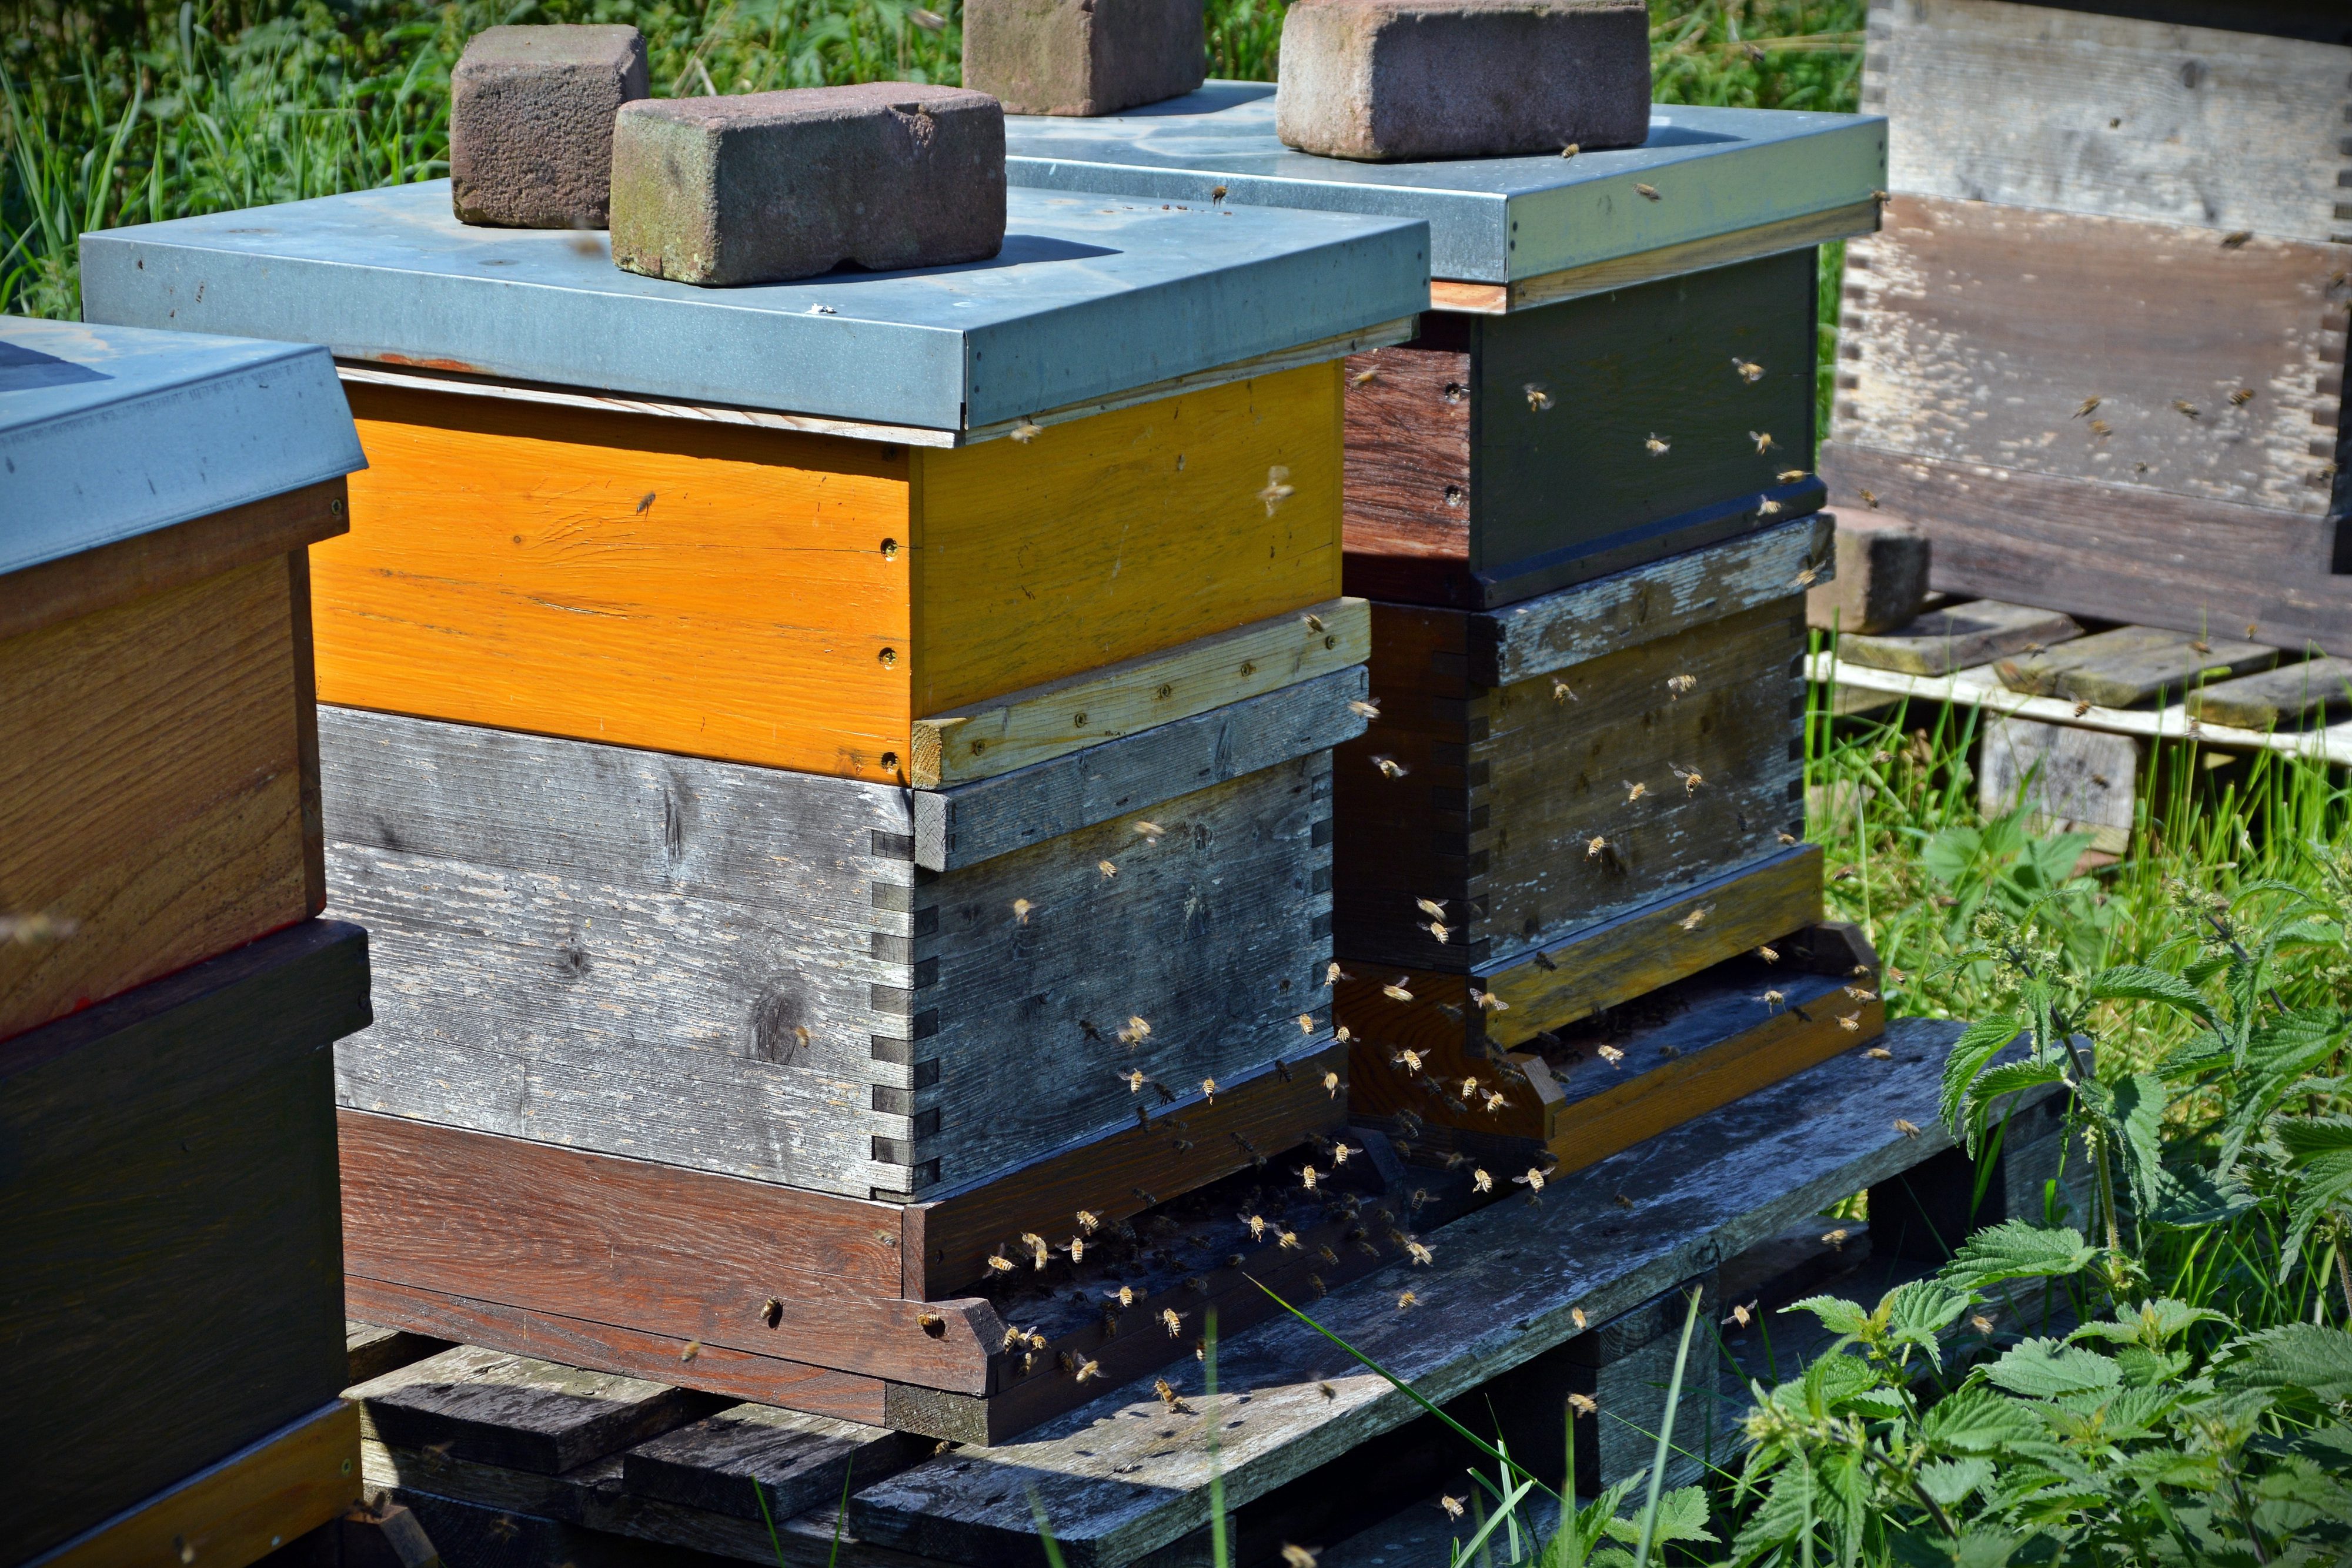
[[[696,284],[985,261],[1004,247],[1004,108],[866,82],[647,99],[614,122],[612,259]]]

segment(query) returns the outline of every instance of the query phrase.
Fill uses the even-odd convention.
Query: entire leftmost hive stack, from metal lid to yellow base
[[[247,1563],[358,1497],[308,545],[320,348],[0,320],[0,1561]]]

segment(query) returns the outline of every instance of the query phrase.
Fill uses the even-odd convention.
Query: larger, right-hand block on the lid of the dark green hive
[[[1503,158],[1649,139],[1642,0],[1301,0],[1275,132],[1324,158]]]

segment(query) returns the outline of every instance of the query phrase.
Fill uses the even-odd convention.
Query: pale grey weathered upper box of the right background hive
[[[2244,26],[2234,9],[2204,14]],[[1910,195],[2345,240],[2347,99],[2347,47],[2004,0],[1870,7],[1863,108],[1889,118],[1886,183]]]

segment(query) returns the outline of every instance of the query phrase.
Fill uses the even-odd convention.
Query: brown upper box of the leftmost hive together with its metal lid
[[[325,350],[0,320],[0,1039],[325,903]]]

